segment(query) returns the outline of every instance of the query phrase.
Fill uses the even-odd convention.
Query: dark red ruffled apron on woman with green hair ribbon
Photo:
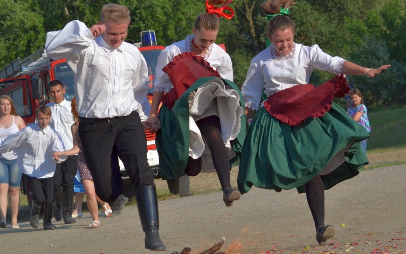
[[[264,101],[264,108],[279,121],[297,126],[307,118],[323,116],[334,97],[350,92],[343,75],[336,76],[320,86],[295,85],[279,91]]]

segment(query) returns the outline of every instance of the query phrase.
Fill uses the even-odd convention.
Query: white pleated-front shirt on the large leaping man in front
[[[79,116],[126,116],[137,110],[141,119],[146,119],[151,107],[146,99],[148,68],[136,46],[123,42],[112,48],[103,36],[94,39],[79,20],[47,36],[54,36],[47,40],[47,54],[54,59],[66,58],[74,72]]]

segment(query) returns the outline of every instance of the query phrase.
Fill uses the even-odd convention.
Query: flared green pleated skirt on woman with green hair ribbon
[[[368,132],[335,103],[319,118],[290,126],[271,116],[263,107],[253,119],[241,154],[238,187],[242,194],[254,185],[266,189],[297,188],[321,173],[324,188],[359,174],[368,164],[360,141]],[[346,151],[346,152],[343,152]],[[342,163],[322,174],[332,159]],[[336,155],[336,156],[335,156]]]

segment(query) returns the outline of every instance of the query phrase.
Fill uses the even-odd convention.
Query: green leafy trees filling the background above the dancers
[[[217,43],[226,45],[234,68],[234,82],[241,87],[250,60],[265,48],[264,0],[235,0],[231,20],[221,18]],[[155,30],[159,45],[170,45],[192,33],[196,16],[205,11],[205,0],[112,0],[128,6],[131,23],[128,40],[140,41],[140,32]],[[45,42],[45,33],[59,30],[75,19],[90,27],[99,21],[105,1],[0,0],[0,66],[17,56],[24,58]],[[370,110],[406,103],[406,2],[404,0],[300,0],[290,10],[296,23],[295,42],[318,44],[330,54],[361,66],[392,67],[373,79],[351,76],[364,93]],[[312,84],[322,84],[333,75],[315,71]]]

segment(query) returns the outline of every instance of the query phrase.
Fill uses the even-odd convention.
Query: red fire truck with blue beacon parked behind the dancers
[[[155,68],[158,56],[164,49],[158,46],[155,40],[154,31],[141,33],[142,43],[136,43],[144,55],[149,68],[147,99],[152,102],[154,80],[156,78]],[[40,105],[50,102],[48,83],[52,80],[60,80],[65,85],[65,99],[71,101],[75,95],[74,77],[71,68],[65,59],[51,59],[47,56],[44,48],[39,49],[27,58],[17,58],[8,66],[0,70],[0,95],[7,94],[13,99],[18,115],[26,124],[35,122],[35,111]],[[147,137],[148,163],[154,172],[154,178],[160,178],[158,153],[155,145],[155,133],[145,131]],[[124,182],[123,194],[127,197],[134,196],[130,180],[126,171],[120,163],[120,171]],[[178,179],[168,179],[168,188],[173,194],[181,197],[190,195],[190,180],[184,175]],[[21,181],[22,193],[27,195],[30,204],[31,195],[28,186],[23,178]]]

